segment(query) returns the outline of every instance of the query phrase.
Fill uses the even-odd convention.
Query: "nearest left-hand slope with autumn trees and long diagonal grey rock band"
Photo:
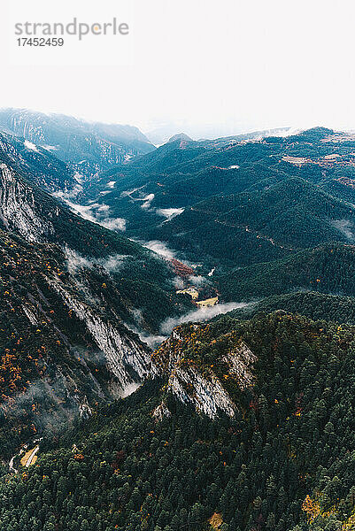
[[[132,392],[150,355],[123,324],[122,305],[105,296],[104,270],[71,274],[58,247],[4,231],[0,254],[4,455],[38,430]]]

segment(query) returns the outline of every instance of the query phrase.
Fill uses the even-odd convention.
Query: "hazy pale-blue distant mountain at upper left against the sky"
[[[0,129],[23,137],[52,151],[57,158],[87,177],[154,150],[154,146],[132,126],[86,122],[62,114],[43,114],[26,109],[0,110]]]

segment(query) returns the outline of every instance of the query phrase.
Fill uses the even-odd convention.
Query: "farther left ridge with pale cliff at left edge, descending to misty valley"
[[[189,307],[175,296],[174,271],[138,243],[96,223],[75,215],[42,189],[30,184],[5,163],[0,168],[0,227],[15,232],[29,242],[51,242],[66,250],[73,267],[90,269],[97,260],[106,260],[110,284],[130,301],[135,322],[157,329],[168,314]],[[113,297],[113,290],[111,296]]]

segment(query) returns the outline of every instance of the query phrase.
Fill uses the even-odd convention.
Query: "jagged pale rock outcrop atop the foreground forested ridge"
[[[176,327],[171,337],[154,352],[152,363],[159,375],[167,376],[168,391],[181,402],[192,404],[197,412],[203,412],[211,419],[219,412],[233,417],[236,405],[224,381],[232,379],[242,390],[251,387],[254,382],[252,369],[257,358],[244,342],[231,335],[228,339],[232,341],[232,348],[217,360],[227,367],[227,372],[222,375],[213,368],[214,364],[207,365],[191,355],[195,344],[214,341],[209,338],[208,329],[208,325]]]

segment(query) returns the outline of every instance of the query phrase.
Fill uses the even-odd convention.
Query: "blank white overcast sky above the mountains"
[[[2,0],[0,9],[0,106],[143,131],[355,128],[353,0]],[[130,35],[16,46],[15,22],[74,16],[116,16]]]

